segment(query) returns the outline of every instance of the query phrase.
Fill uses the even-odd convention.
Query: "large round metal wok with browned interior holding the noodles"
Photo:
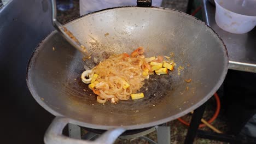
[[[34,99],[57,117],[46,142],[62,139],[60,131],[67,123],[132,130],[172,121],[211,98],[228,70],[223,41],[204,22],[181,11],[113,8],[79,17],[65,26],[92,55],[84,62],[80,52],[56,31],[34,51],[27,68],[28,88]],[[112,53],[130,53],[139,46],[146,49],[146,56],[170,56],[173,52],[171,58],[177,64],[174,71],[150,76],[141,89],[143,99],[116,105],[97,103],[79,78],[84,65],[92,68]],[[187,83],[186,79],[192,81]]]

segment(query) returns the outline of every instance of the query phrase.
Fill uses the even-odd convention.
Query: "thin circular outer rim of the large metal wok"
[[[50,112],[51,114],[53,114],[56,117],[65,117],[69,119],[69,122],[72,124],[77,124],[80,125],[82,127],[86,127],[86,128],[92,128],[92,129],[101,129],[101,130],[109,130],[109,129],[113,129],[113,128],[118,128],[118,127],[122,127],[125,128],[126,130],[132,130],[132,129],[142,129],[142,128],[148,128],[148,127],[154,127],[155,125],[159,125],[159,124],[163,124],[166,122],[170,122],[173,121],[174,119],[177,119],[179,117],[182,117],[184,115],[186,115],[187,113],[189,113],[190,111],[193,111],[195,109],[197,109],[199,106],[201,106],[202,104],[206,103],[206,101],[208,99],[210,99],[214,93],[217,92],[217,90],[219,89],[219,87],[222,85],[226,74],[228,73],[228,65],[229,65],[229,55],[228,55],[228,50],[226,49],[226,45],[224,44],[224,41],[222,40],[222,38],[219,37],[219,35],[214,31],[214,29],[212,29],[210,26],[208,26],[205,22],[197,19],[194,16],[191,16],[189,14],[183,13],[182,11],[179,10],[174,10],[174,9],[170,9],[170,8],[162,8],[162,7],[136,7],[136,6],[125,6],[125,7],[114,7],[114,8],[107,8],[107,9],[102,9],[102,10],[98,10],[86,15],[82,15],[82,16],[78,16],[75,19],[72,19],[68,22],[65,23],[65,25],[67,24],[71,24],[73,22],[75,22],[76,20],[79,20],[82,17],[85,16],[90,16],[93,15],[95,13],[101,12],[101,11],[106,11],[106,10],[113,10],[113,9],[119,9],[119,8],[144,8],[144,9],[149,9],[149,8],[153,8],[153,9],[159,9],[159,10],[167,10],[167,11],[175,11],[174,13],[182,13],[184,16],[190,17],[190,19],[194,19],[195,21],[202,23],[202,25],[205,25],[206,27],[210,28],[210,30],[212,31],[213,35],[215,34],[217,36],[217,39],[220,40],[220,42],[223,45],[223,52],[224,52],[224,56],[226,59],[224,59],[225,65],[224,65],[224,70],[222,72],[222,74],[220,75],[220,79],[219,81],[216,83],[216,85],[212,88],[212,90],[203,98],[201,99],[199,102],[197,102],[196,104],[194,104],[193,106],[189,107],[188,109],[177,113],[176,115],[172,115],[170,117],[166,117],[164,119],[159,119],[157,121],[154,122],[149,122],[149,123],[143,123],[143,124],[135,124],[135,125],[120,125],[120,126],[113,126],[113,125],[99,125],[99,124],[91,124],[91,123],[85,123],[85,122],[81,122],[72,118],[68,118],[66,116],[61,115],[61,113],[56,112],[55,110],[51,109],[48,105],[46,105],[39,97],[39,95],[37,94],[36,91],[34,91],[34,87],[30,81],[30,68],[32,67],[34,60],[37,57],[37,53],[40,50],[40,46],[45,42],[46,39],[49,38],[50,35],[57,33],[56,30],[52,31],[51,33],[49,33],[48,35],[46,35],[46,37],[44,39],[42,39],[42,41],[40,41],[40,43],[36,46],[36,48],[34,49],[34,51],[32,52],[32,55],[28,61],[27,64],[27,70],[26,70],[26,82],[27,82],[27,87],[31,92],[32,97],[37,101],[37,103],[42,106],[46,111]]]

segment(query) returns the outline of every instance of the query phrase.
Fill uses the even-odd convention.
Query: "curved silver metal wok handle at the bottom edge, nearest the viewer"
[[[63,128],[71,122],[69,118],[56,117],[51,122],[49,128],[46,130],[44,135],[44,143],[46,144],[112,144],[118,138],[119,135],[124,133],[125,129],[116,128],[106,131],[95,141],[86,141],[71,139],[70,137],[62,135]]]

